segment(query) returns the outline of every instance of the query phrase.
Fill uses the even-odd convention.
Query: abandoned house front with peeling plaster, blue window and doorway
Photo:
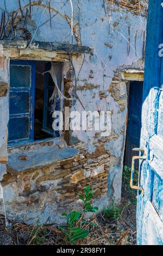
[[[62,212],[80,208],[76,194],[89,184],[99,210],[120,202],[123,163],[139,147],[146,4],[1,1],[0,180],[11,220],[60,223]],[[111,111],[109,136],[53,132],[52,66],[65,95],[58,109]],[[139,118],[134,135],[129,115]]]

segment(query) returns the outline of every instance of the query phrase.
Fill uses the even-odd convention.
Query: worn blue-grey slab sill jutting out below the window
[[[78,149],[59,148],[57,146],[43,147],[33,151],[22,151],[22,153],[11,153],[8,157],[7,171],[11,174],[18,173],[49,166],[55,162],[74,157],[79,154]],[[26,156],[25,161],[18,159],[20,156]]]

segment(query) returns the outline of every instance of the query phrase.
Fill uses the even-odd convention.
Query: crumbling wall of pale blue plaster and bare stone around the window
[[[28,4],[27,2],[25,1],[25,4]],[[42,1],[42,4],[45,4],[44,2]],[[96,1],[96,4],[94,1],[74,1],[73,44],[89,46],[92,53],[74,54],[73,66],[69,53],[54,52],[51,49],[40,51],[36,46],[29,47],[28,50],[21,47],[16,50],[7,49],[5,58],[1,58],[0,177],[4,187],[7,216],[11,219],[29,224],[36,218],[39,218],[41,223],[60,223],[63,211],[81,207],[76,193],[81,192],[87,184],[93,187],[93,204],[98,205],[100,209],[113,197],[120,203],[127,118],[127,81],[122,79],[121,73],[130,69],[140,72],[143,70],[146,16],[140,17],[139,11],[131,13],[129,8],[125,9],[117,2],[120,1],[105,1],[104,6],[103,1]],[[0,4],[0,7],[3,8],[3,4]],[[16,9],[17,1],[10,6],[12,14]],[[56,9],[60,10],[60,5],[52,1],[51,12],[56,14]],[[36,28],[41,10],[41,3],[33,5],[29,28]],[[49,10],[46,14],[49,15]],[[70,17],[71,6],[67,4],[52,20],[55,33],[47,22],[39,27],[35,40],[71,44]],[[65,95],[71,95],[72,89],[76,87],[86,111],[111,111],[111,135],[103,137],[96,131],[67,132],[65,141],[68,145],[64,141],[63,145],[61,142],[57,147],[77,148],[79,154],[70,159],[55,161],[48,167],[35,167],[18,173],[8,169],[5,174],[8,153],[10,157],[10,154],[15,152],[21,155],[24,151],[30,153],[30,150],[36,147],[53,146],[53,142],[46,142],[40,143],[39,146],[26,145],[7,151],[8,60],[16,56],[22,59],[64,62]],[[72,110],[82,112],[80,101],[77,99],[71,104],[65,101],[64,105],[70,105]]]

